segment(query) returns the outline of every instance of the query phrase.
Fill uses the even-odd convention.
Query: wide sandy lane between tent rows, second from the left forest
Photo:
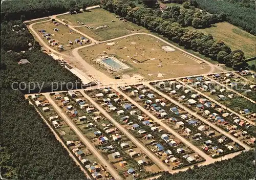
[[[50,94],[46,93],[45,97],[49,101],[50,104],[54,107],[59,116],[65,120],[65,122],[69,125],[70,128],[77,134],[78,138],[86,145],[87,148],[90,149],[92,153],[94,153],[95,157],[105,165],[106,169],[112,174],[115,179],[122,179],[122,177],[116,172],[113,166],[103,157],[103,155],[95,148],[95,146],[90,142],[90,140],[84,136],[82,131],[76,126],[76,124],[58,107],[58,105],[51,99]]]

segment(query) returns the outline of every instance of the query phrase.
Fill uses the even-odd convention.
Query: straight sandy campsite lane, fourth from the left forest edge
[[[163,123],[161,120],[159,120],[158,118],[156,118],[154,115],[152,115],[148,110],[144,109],[143,107],[141,107],[136,101],[134,101],[132,98],[130,98],[129,96],[127,96],[126,94],[124,94],[120,89],[115,88],[115,91],[117,91],[118,93],[120,93],[124,98],[126,98],[127,100],[131,101],[131,103],[133,103],[134,105],[136,105],[143,113],[145,113],[148,117],[150,117],[151,119],[153,119],[155,122],[157,122],[159,125],[161,125],[162,127],[164,127],[166,130],[168,130],[170,133],[174,134],[174,136],[176,136],[178,139],[180,139],[185,145],[187,145],[188,147],[190,147],[191,149],[193,149],[196,153],[198,153],[200,156],[202,156],[206,161],[208,162],[212,162],[214,159],[210,158],[207,154],[205,154],[203,151],[201,151],[200,149],[198,149],[195,145],[193,145],[192,143],[190,143],[188,140],[186,140],[185,138],[183,138],[182,136],[180,136],[179,133],[177,133],[176,131],[174,131],[172,128],[170,128],[169,126],[167,126],[165,123]]]

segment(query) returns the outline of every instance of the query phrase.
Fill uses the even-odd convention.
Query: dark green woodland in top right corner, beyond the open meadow
[[[239,26],[245,31],[255,35],[255,9],[241,7],[239,3],[229,3],[228,1],[205,1],[194,0],[200,9],[204,9],[212,14],[225,13],[227,20],[235,26]],[[254,3],[254,2],[253,2]]]

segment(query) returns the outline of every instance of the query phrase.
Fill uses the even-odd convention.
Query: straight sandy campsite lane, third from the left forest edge
[[[164,171],[172,171],[168,166],[163,164],[163,162],[157,158],[156,155],[152,153],[149,149],[147,149],[141,142],[139,142],[134,136],[127,131],[122,125],[120,125],[116,120],[114,120],[98,103],[96,103],[91,97],[89,97],[86,93],[83,91],[80,91],[80,93],[86,97],[99,111],[104,115],[106,118],[108,118],[120,131],[122,131],[127,138],[129,138],[137,147],[141,148],[142,151],[144,151],[147,156],[161,169]]]

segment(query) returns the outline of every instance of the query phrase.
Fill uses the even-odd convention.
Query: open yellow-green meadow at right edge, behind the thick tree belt
[[[188,27],[188,29],[194,28]],[[232,50],[241,49],[245,53],[245,58],[255,56],[255,36],[228,22],[219,22],[210,28],[197,29],[197,31],[211,34],[217,40],[223,40]]]

